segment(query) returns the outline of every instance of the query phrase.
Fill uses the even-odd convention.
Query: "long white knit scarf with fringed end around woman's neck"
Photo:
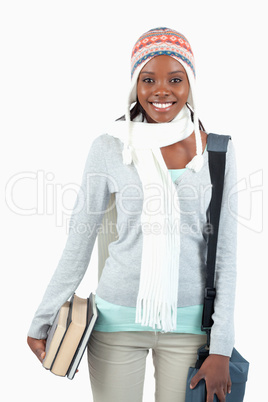
[[[180,208],[160,148],[189,137],[194,125],[186,106],[169,123],[137,120],[140,118],[116,121],[108,130],[124,144],[128,141],[143,187],[143,249],[136,322],[169,332],[176,329],[177,323]]]

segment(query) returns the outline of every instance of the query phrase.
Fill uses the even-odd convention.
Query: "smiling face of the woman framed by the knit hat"
[[[188,99],[189,81],[184,67],[170,56],[156,56],[141,70],[138,100],[149,123],[167,123]]]

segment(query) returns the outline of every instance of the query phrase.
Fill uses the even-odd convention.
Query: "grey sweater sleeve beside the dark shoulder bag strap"
[[[210,354],[231,356],[234,346],[236,289],[237,191],[236,162],[229,141],[215,269],[216,299],[211,329]]]

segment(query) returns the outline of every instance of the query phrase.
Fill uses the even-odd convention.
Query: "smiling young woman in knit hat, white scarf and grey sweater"
[[[94,401],[142,401],[151,349],[156,401],[182,402],[188,368],[206,343],[200,326],[211,199],[207,134],[198,119],[194,57],[183,35],[168,28],[146,32],[131,61],[126,114],[91,146],[67,244],[28,343],[42,361],[47,330],[83,278],[113,196],[117,237],[96,290],[99,319],[88,347]],[[230,210],[236,199],[229,192],[235,182],[230,142],[210,355],[191,383],[205,379],[207,402],[214,394],[222,402],[231,391],[236,223]]]

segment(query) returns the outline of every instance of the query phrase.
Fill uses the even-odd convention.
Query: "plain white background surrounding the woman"
[[[132,46],[158,26],[189,39],[200,118],[207,131],[230,134],[236,148],[241,190],[236,347],[251,363],[245,401],[256,401],[266,384],[267,361],[266,14],[265,2],[258,0],[1,2],[5,401],[92,401],[86,358],[73,381],[58,378],[41,367],[26,336],[62,253],[90,144],[124,113]],[[77,292],[86,297],[96,283],[94,251]],[[153,387],[148,360],[144,401],[153,401]]]

